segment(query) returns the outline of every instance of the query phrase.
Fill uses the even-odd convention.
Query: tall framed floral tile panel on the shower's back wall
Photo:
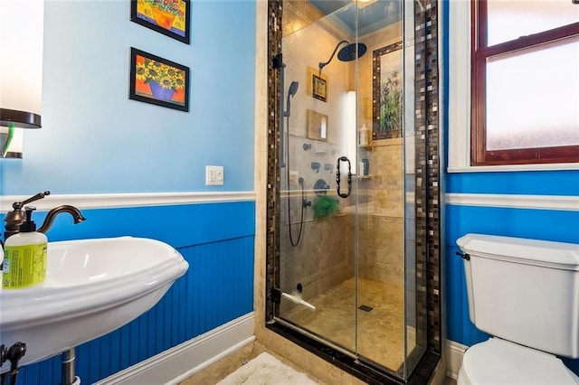
[[[402,42],[375,50],[372,108],[372,138],[402,136],[403,51]]]

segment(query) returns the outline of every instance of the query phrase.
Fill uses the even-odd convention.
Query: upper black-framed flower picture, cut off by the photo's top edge
[[[130,20],[189,43],[190,0],[130,0]]]

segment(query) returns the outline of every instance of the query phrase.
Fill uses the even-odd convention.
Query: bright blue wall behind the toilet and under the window
[[[448,0],[444,2],[444,62],[449,62]],[[449,73],[443,69],[448,100]],[[448,117],[448,102],[444,116]],[[444,127],[448,133],[448,122]],[[446,138],[448,144],[448,137]],[[448,146],[447,146],[448,147]],[[483,172],[445,174],[446,192],[477,194],[526,194],[579,196],[579,171]],[[554,211],[519,208],[446,205],[445,216],[445,277],[447,298],[447,337],[451,341],[472,345],[489,338],[469,319],[469,308],[462,259],[456,239],[469,233],[505,235],[511,237],[546,239],[579,243],[579,207],[576,210]],[[565,360],[579,373],[578,360]]]

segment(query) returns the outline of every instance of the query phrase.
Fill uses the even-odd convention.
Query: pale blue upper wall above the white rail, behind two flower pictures
[[[48,1],[43,128],[1,160],[0,193],[253,190],[255,4],[193,1],[191,44],[130,21],[128,1]],[[128,99],[130,47],[191,69],[190,112]],[[204,185],[223,165],[223,187]]]

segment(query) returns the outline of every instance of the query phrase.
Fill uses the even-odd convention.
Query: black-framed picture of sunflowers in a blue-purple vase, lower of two
[[[189,111],[189,68],[130,49],[128,99]]]

